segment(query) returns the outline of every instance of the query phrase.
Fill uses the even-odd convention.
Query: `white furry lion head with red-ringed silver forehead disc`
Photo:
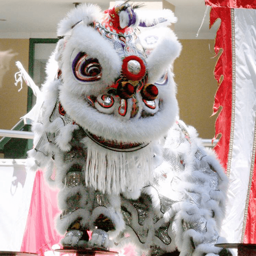
[[[176,19],[169,10],[144,18],[137,7],[83,4],[59,24],[60,102],[96,140],[149,143],[177,115],[171,67],[181,45],[167,28]]]

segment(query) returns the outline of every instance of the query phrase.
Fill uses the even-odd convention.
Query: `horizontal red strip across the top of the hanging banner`
[[[205,0],[205,4],[212,7],[256,9],[255,0]]]

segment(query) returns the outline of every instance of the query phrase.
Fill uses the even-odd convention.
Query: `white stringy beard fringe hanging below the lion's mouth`
[[[151,144],[134,152],[117,152],[84,138],[87,160],[84,167],[85,183],[108,194],[136,193],[152,182]],[[131,197],[133,197],[131,194]]]

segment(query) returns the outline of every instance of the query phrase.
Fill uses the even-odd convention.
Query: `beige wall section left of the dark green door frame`
[[[6,68],[1,67],[1,61],[4,60],[5,66],[8,63],[8,57],[3,57],[7,50],[17,54],[11,57],[9,70],[3,74]],[[20,84],[17,87],[14,85],[14,75],[19,71],[16,61],[20,61],[28,71],[29,39],[0,39],[0,52],[0,129],[11,129],[27,110],[28,87],[23,82],[23,89],[18,92]]]

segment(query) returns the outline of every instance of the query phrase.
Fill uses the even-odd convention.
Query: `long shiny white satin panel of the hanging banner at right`
[[[235,126],[222,236],[240,243],[250,180],[256,112],[256,10],[235,9]]]

